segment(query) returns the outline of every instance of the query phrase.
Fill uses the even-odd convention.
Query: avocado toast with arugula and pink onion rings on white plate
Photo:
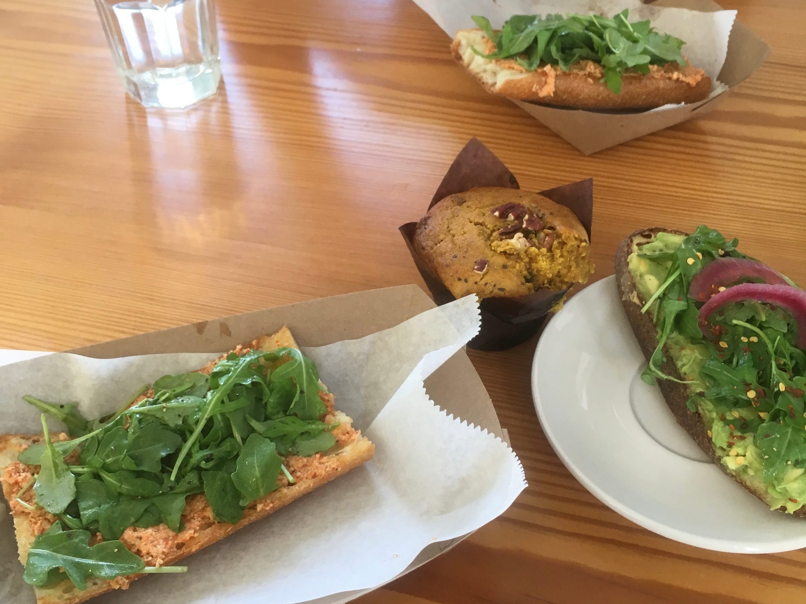
[[[680,425],[774,510],[806,516],[806,292],[700,226],[631,234],[629,323]]]

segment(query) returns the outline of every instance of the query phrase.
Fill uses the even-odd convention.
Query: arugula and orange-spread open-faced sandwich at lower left
[[[44,433],[0,436],[0,482],[38,604],[183,572],[172,565],[375,450],[285,328],[166,375],[98,420],[26,399],[44,412]],[[69,435],[49,432],[45,413]]]

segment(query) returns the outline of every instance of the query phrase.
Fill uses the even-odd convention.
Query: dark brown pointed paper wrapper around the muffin
[[[448,168],[428,209],[449,195],[476,187],[520,188],[517,179],[501,159],[484,147],[479,139],[471,139],[456,156],[451,168]],[[592,179],[563,184],[561,187],[539,193],[575,213],[590,238],[593,219]],[[451,291],[431,270],[426,259],[414,250],[412,240],[416,228],[417,222],[407,222],[400,227],[411,257],[431,295],[434,296],[434,302],[437,304],[452,302],[455,297]],[[567,291],[567,289],[559,292],[538,290],[526,296],[484,298],[480,302],[481,330],[467,345],[476,350],[504,350],[526,341],[546,322],[550,309],[565,296]]]

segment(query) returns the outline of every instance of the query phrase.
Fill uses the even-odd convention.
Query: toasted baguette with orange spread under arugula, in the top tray
[[[650,73],[625,72],[621,93],[614,93],[600,80],[605,72],[600,64],[581,60],[564,72],[555,65],[526,71],[511,59],[484,59],[495,50],[480,29],[460,30],[451,44],[451,53],[489,93],[532,101],[542,105],[561,105],[589,110],[642,110],[667,103],[702,101],[711,93],[711,78],[702,69],[669,63],[650,65]]]

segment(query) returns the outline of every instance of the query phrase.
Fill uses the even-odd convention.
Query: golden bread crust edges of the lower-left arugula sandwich
[[[260,350],[275,350],[276,348],[284,346],[293,346],[298,348],[297,342],[294,341],[289,329],[283,328],[272,336],[264,336],[256,339],[248,345],[253,349]],[[239,346],[236,351],[242,347]],[[245,350],[242,351],[242,353]],[[206,373],[214,366],[214,362],[202,369]],[[342,412],[335,411],[334,415],[342,425],[351,424],[351,419]],[[338,429],[338,428],[337,428]],[[57,440],[66,440],[69,438],[66,434],[60,433],[53,435]],[[4,434],[0,435],[0,469],[9,463],[16,461],[17,456],[23,449],[35,442],[41,442],[41,435],[24,435],[24,434]],[[185,546],[181,549],[171,549],[163,559],[163,566],[176,564],[186,556],[198,552],[206,548],[208,545],[214,544],[218,540],[239,531],[241,528],[265,518],[269,514],[285,507],[295,499],[299,499],[302,495],[310,493],[310,491],[322,486],[326,482],[330,482],[334,478],[346,474],[348,471],[362,465],[364,462],[369,461],[375,453],[375,445],[368,440],[363,434],[358,434],[354,441],[351,441],[343,448],[338,449],[330,455],[324,456],[328,460],[326,471],[321,474],[316,474],[312,478],[298,479],[293,485],[280,486],[278,489],[265,495],[260,499],[256,499],[250,503],[243,512],[243,518],[237,524],[230,524],[226,522],[212,522],[209,527],[204,527],[195,532],[193,537],[185,541]],[[320,454],[318,454],[320,455]],[[12,490],[10,485],[5,481],[2,483],[2,491],[7,501],[15,495],[15,490]],[[19,547],[19,561],[25,565],[27,559],[27,552],[31,548],[31,544],[35,540],[37,534],[33,529],[28,516],[25,514],[14,514],[15,534]],[[129,575],[125,577],[126,580],[134,581],[140,577],[145,577],[145,574]],[[114,590],[123,586],[126,589],[128,586],[121,585],[118,577],[112,581],[92,577],[87,579],[87,589],[80,591],[77,590],[72,581],[65,579],[56,585],[48,588],[34,588],[36,594],[37,604],[81,604],[90,598],[94,598],[100,594],[105,594],[108,591]],[[116,581],[118,583],[116,584]]]

